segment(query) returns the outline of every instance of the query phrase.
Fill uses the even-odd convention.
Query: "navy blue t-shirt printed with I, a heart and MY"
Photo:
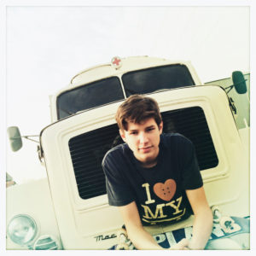
[[[156,166],[143,168],[126,143],[108,151],[102,160],[108,203],[125,206],[136,201],[144,225],[170,224],[193,212],[185,189],[202,186],[194,145],[177,133],[160,135]]]

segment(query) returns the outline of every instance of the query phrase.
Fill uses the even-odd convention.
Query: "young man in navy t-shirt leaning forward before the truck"
[[[125,143],[108,151],[102,168],[109,205],[119,207],[133,245],[163,249],[143,225],[176,223],[194,212],[193,237],[172,249],[203,249],[212,231],[212,211],[193,144],[177,133],[162,134],[158,104],[146,96],[126,99],[116,121]]]

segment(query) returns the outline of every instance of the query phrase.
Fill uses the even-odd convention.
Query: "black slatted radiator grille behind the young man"
[[[218,166],[207,120],[199,107],[183,108],[162,113],[164,132],[178,132],[195,145],[201,171]],[[73,169],[79,195],[89,199],[106,194],[102,159],[108,149],[122,143],[116,124],[89,131],[69,140]]]

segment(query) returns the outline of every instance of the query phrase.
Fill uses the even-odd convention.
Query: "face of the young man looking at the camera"
[[[162,130],[162,123],[158,127],[154,118],[149,118],[140,124],[129,122],[127,131],[119,130],[119,133],[142,166],[149,168],[157,163]]]

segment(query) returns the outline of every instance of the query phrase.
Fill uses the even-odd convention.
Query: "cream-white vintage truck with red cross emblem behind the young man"
[[[238,97],[247,92],[242,73],[233,73],[233,83],[228,90],[234,88]],[[181,133],[195,144],[216,237],[240,230],[230,216],[250,215],[249,127],[238,129],[236,101],[218,84],[201,84],[190,62],[114,57],[78,73],[50,96],[52,124],[41,131],[38,147],[47,178],[7,189],[7,249],[125,247],[119,210],[108,205],[102,158],[121,143],[116,109],[136,93],[159,102],[164,132]],[[13,150],[19,150],[18,128],[8,133]],[[191,236],[192,221],[193,216],[146,229],[160,244],[171,245],[173,230]],[[236,248],[248,249],[248,234]]]

